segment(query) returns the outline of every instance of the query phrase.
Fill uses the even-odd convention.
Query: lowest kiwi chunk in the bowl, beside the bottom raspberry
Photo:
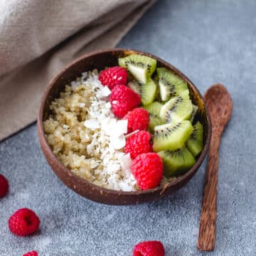
[[[186,146],[176,150],[164,150],[157,154],[161,156],[164,163],[164,175],[167,178],[184,174],[186,171],[196,164],[196,159]]]

